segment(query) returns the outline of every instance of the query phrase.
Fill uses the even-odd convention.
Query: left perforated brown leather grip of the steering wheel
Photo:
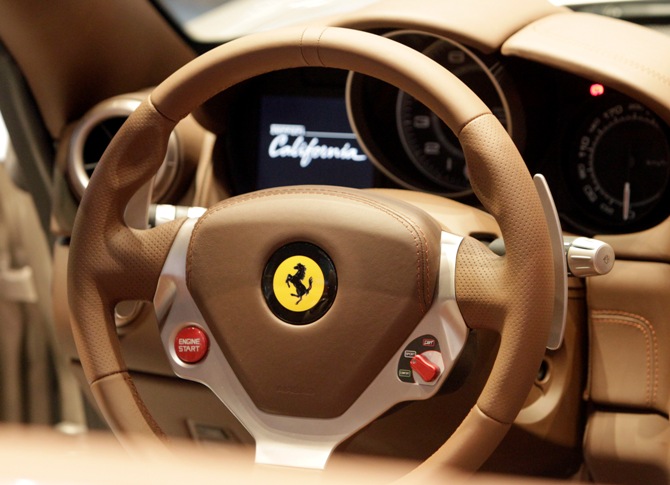
[[[160,165],[172,128],[150,104],[138,108],[105,153],[79,208],[68,294],[77,348],[90,382],[125,369],[110,309],[124,299],[153,298],[179,228],[172,223],[137,231],[123,221],[127,202]]]

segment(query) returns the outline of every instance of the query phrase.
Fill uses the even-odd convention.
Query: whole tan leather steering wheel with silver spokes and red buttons
[[[376,77],[434,111],[458,136],[506,255],[442,231],[409,204],[325,186],[253,192],[197,220],[128,227],[125,208],[158,170],[180,119],[241,81],[307,66]],[[256,439],[256,460],[312,468],[393,404],[435,394],[468,328],[485,328],[500,334],[488,381],[422,465],[478,468],[530,390],[554,294],[542,206],[498,120],[432,60],[341,28],[241,38],[159,85],[90,181],[68,270],[81,362],[119,436],[164,438],[127,371],[113,320],[118,302],[153,300],[175,373],[206,384],[231,409]]]

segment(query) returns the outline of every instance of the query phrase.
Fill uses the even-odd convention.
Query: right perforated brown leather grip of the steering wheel
[[[473,189],[495,216],[506,256],[474,240],[461,246],[456,298],[473,328],[501,332],[498,359],[479,399],[492,418],[511,423],[534,379],[547,342],[553,308],[551,243],[540,200],[521,156],[492,115],[461,132]]]

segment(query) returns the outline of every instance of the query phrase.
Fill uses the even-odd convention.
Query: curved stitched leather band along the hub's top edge
[[[395,219],[397,222],[399,222],[406,230],[407,232],[412,236],[412,239],[414,240],[414,247],[416,248],[416,268],[417,268],[417,274],[416,274],[416,281],[417,281],[417,296],[419,300],[419,310],[421,313],[426,312],[426,300],[427,300],[427,284],[424,284],[421,278],[421,273],[422,269],[428,268],[430,266],[429,264],[429,257],[430,255],[428,254],[428,244],[425,241],[422,241],[419,237],[417,237],[421,233],[421,235],[425,238],[425,235],[422,233],[420,229],[417,229],[416,224],[407,219],[406,217],[402,216],[401,214],[395,212],[394,210],[390,209],[389,207],[386,207],[385,205],[379,204],[373,200],[364,198],[364,197],[359,197],[354,194],[348,194],[344,192],[337,192],[333,190],[327,190],[327,189],[270,189],[266,190],[263,192],[254,192],[253,194],[249,195],[243,195],[240,197],[237,197],[235,199],[229,199],[228,201],[225,201],[221,203],[220,205],[216,206],[215,208],[212,208],[209,210],[207,213],[205,213],[196,223],[195,227],[193,228],[193,235],[191,237],[191,242],[189,244],[189,251],[188,251],[188,256],[186,260],[187,264],[187,274],[186,274],[186,283],[190,287],[191,286],[191,266],[192,266],[192,256],[193,256],[193,244],[195,239],[198,237],[199,234],[199,229],[201,224],[204,224],[204,222],[212,215],[216,214],[217,212],[227,209],[229,207],[233,207],[245,202],[250,202],[254,200],[259,200],[263,199],[266,197],[270,197],[273,195],[326,195],[330,197],[339,197],[342,199],[348,199],[356,202],[363,203],[369,207],[372,207],[374,209],[379,210],[380,212],[383,212],[387,214],[388,216],[392,217]],[[426,258],[421,257],[422,249],[425,249],[425,254]]]

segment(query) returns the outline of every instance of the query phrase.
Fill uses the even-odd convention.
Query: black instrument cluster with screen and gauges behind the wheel
[[[425,53],[484,100],[531,173],[547,178],[564,230],[628,233],[667,218],[670,130],[643,103],[599,79],[442,37],[384,35]],[[275,72],[203,110],[217,133],[214,172],[232,194],[296,184],[400,187],[477,205],[457,138],[378,80],[317,68]]]

